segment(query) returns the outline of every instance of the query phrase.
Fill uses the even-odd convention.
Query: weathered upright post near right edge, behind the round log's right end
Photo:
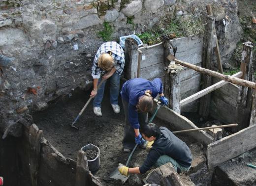
[[[251,42],[243,43],[242,61],[240,69],[243,71],[244,80],[253,80],[253,44]],[[242,130],[249,126],[250,113],[252,108],[252,89],[246,86],[239,87],[237,99],[237,120],[238,130]]]

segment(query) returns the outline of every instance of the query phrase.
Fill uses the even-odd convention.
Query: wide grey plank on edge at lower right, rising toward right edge
[[[226,136],[207,147],[208,168],[212,169],[220,163],[235,158],[256,147],[256,125],[252,125],[238,133]]]

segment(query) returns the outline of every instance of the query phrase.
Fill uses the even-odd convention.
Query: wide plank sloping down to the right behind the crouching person
[[[155,101],[155,107],[156,107],[157,100],[154,99],[154,101]],[[190,121],[185,116],[182,116],[181,114],[173,111],[167,106],[163,106],[160,108],[160,110],[158,111],[157,117],[159,117],[161,120],[166,121],[173,128],[177,130],[197,129],[197,127],[193,124],[192,121]],[[210,136],[208,133],[204,131],[195,131],[195,132],[188,133],[188,135],[198,141],[202,141],[204,144],[209,144],[214,140],[212,136]]]

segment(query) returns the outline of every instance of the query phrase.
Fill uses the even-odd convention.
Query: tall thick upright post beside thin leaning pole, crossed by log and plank
[[[215,23],[214,17],[207,16],[207,26],[204,31],[202,67],[209,70],[212,70],[214,23]],[[202,75],[201,89],[205,89],[211,84],[212,84],[211,76]],[[210,102],[211,102],[210,93],[200,99],[199,114],[204,118],[207,118],[209,115]]]

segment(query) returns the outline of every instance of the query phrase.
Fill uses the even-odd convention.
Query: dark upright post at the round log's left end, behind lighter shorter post
[[[170,61],[166,58],[170,53],[174,54],[173,52],[173,46],[169,40],[169,38],[166,38],[163,41],[163,46],[165,48],[165,61],[164,61],[164,66],[168,67]],[[171,80],[170,80],[170,75],[167,73],[165,73],[164,76],[164,83],[163,83],[163,87],[164,87],[164,96],[169,100],[168,103],[168,107],[171,108],[172,107],[172,103],[171,103]]]

